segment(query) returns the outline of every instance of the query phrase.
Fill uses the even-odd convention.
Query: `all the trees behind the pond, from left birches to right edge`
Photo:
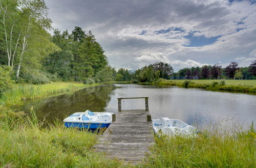
[[[167,63],[154,63],[135,71],[109,66],[104,50],[91,31],[79,26],[69,33],[54,30],[44,0],[0,0],[0,93],[13,81],[47,83],[75,80],[152,82],[158,78],[255,79],[256,61],[239,68],[231,62],[183,68],[174,73]]]

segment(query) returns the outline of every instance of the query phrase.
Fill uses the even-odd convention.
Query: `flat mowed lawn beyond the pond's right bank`
[[[174,82],[184,82],[185,80],[174,79],[174,80],[167,80],[167,81],[174,81]],[[220,82],[221,80],[218,79],[199,79],[199,80],[190,80],[195,83],[199,84],[206,84],[212,83],[214,81]],[[224,80],[226,85],[248,85],[256,87],[256,80]]]

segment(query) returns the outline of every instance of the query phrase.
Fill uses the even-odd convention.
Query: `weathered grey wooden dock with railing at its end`
[[[145,102],[148,109],[147,99]],[[150,153],[148,147],[154,143],[151,116],[148,110],[122,111],[121,107],[119,110],[114,115],[115,122],[102,134],[95,148],[96,151],[106,152],[111,159],[136,164],[143,160],[146,153]]]

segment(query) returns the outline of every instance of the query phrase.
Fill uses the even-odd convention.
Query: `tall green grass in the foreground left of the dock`
[[[117,167],[92,149],[97,133],[68,129],[62,122],[42,127],[33,110],[29,115],[0,117],[0,167]]]

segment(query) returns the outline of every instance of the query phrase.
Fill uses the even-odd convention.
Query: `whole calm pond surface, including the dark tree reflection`
[[[256,96],[238,93],[211,92],[200,89],[142,85],[103,85],[86,88],[72,95],[61,95],[26,102],[24,109],[33,105],[39,118],[48,121],[77,111],[118,110],[119,97],[149,97],[153,119],[168,117],[188,124],[202,126],[209,122],[234,118],[243,125],[256,121]],[[144,99],[125,99],[122,109],[144,109]]]

